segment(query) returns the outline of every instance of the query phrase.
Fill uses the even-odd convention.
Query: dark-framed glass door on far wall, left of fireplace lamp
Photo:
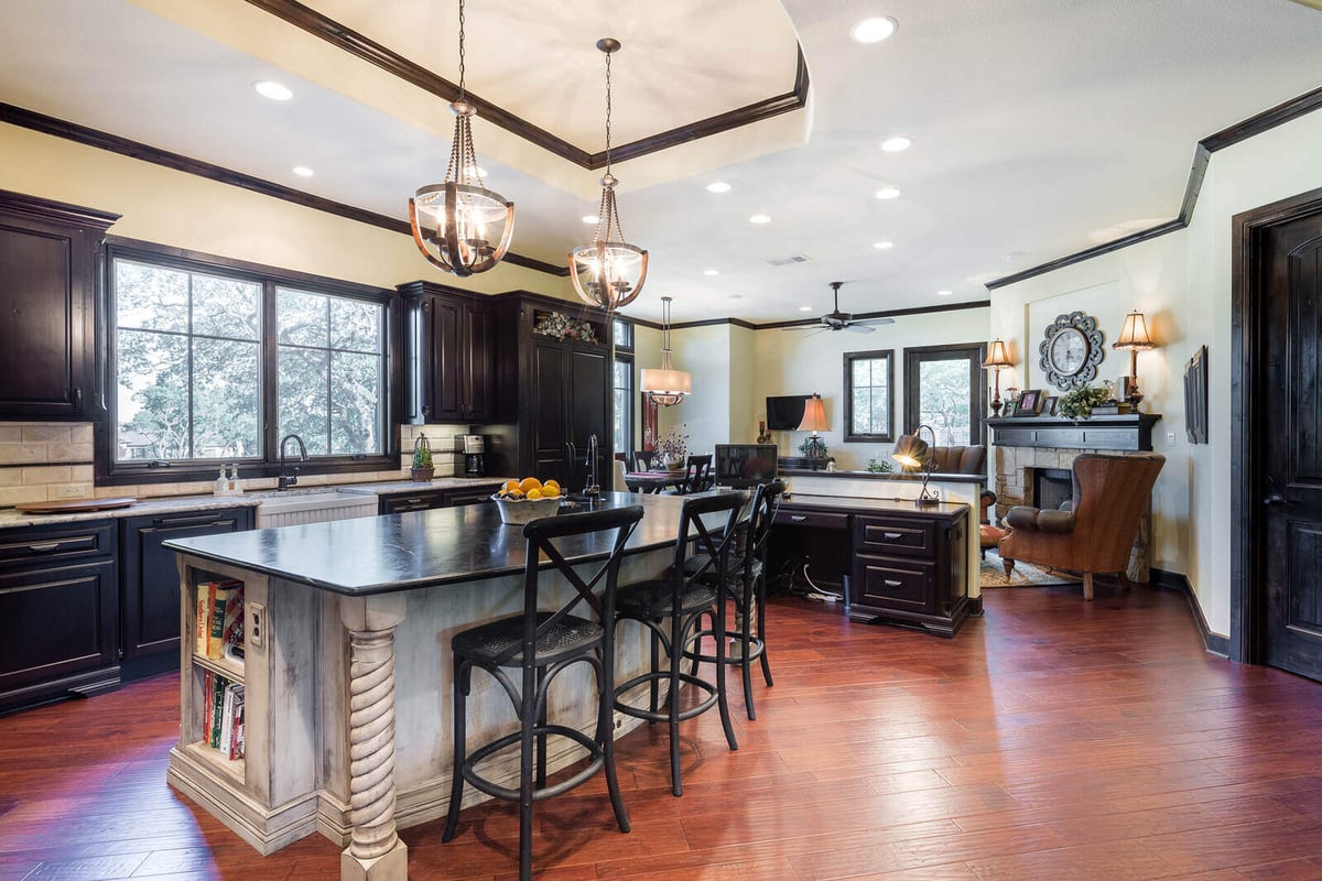
[[[904,431],[931,425],[939,446],[982,444],[985,343],[904,350]]]

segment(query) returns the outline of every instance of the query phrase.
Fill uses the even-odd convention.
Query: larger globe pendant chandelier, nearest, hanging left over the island
[[[514,203],[483,186],[473,149],[477,108],[464,91],[464,0],[459,0],[459,100],[449,165],[443,184],[428,184],[408,199],[408,223],[418,250],[434,267],[465,277],[501,262],[514,232]],[[496,242],[492,246],[492,242]]]

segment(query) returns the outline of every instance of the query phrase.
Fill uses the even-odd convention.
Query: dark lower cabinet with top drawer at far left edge
[[[115,526],[0,532],[0,711],[119,686]]]

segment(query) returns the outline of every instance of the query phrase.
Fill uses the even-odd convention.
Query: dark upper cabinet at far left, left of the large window
[[[119,219],[0,190],[0,419],[90,420],[97,254]]]

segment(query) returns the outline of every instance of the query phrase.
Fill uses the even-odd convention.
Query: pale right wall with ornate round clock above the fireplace
[[[992,330],[1015,343],[1017,372],[1040,384],[1043,318],[1084,309],[1101,321],[1105,378],[1128,372],[1109,350],[1129,309],[1145,312],[1159,349],[1140,353],[1144,409],[1162,413],[1154,446],[1167,457],[1153,494],[1154,565],[1185,573],[1208,627],[1231,626],[1231,218],[1322,188],[1322,114],[1212,155],[1188,229],[993,292]],[[1050,320],[1050,317],[1047,317]],[[1185,437],[1183,369],[1208,349],[1208,444]],[[1122,357],[1124,355],[1124,357]]]

